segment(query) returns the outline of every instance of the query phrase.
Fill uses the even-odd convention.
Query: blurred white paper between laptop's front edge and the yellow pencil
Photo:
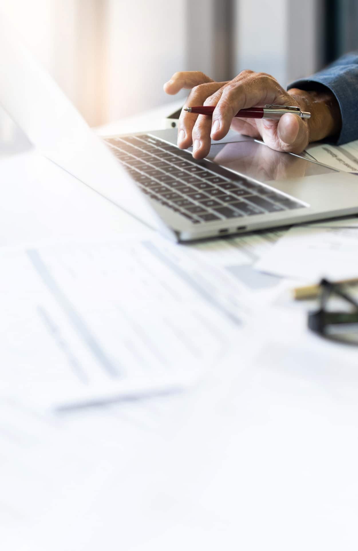
[[[336,221],[339,224],[339,221]],[[351,226],[332,225],[291,228],[255,268],[279,276],[318,280],[358,276],[357,219]]]

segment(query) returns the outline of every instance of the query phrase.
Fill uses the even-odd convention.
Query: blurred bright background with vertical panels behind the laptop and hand
[[[358,49],[358,0],[2,0],[91,126],[159,106],[172,73],[242,69],[286,86]]]

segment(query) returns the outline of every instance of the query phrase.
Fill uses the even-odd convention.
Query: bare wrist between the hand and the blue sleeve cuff
[[[339,134],[340,109],[337,99],[328,88],[318,84],[316,90],[291,88],[288,93],[296,99],[302,111],[311,113],[311,117],[307,120],[310,142]]]

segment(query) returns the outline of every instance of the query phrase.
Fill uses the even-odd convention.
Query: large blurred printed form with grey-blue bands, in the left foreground
[[[1,264],[0,392],[40,407],[186,386],[246,315],[229,274],[161,238],[7,250]]]

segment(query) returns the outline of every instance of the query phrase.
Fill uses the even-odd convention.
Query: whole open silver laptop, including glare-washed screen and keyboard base
[[[177,148],[175,128],[101,141],[3,20],[0,30],[0,104],[29,142],[77,181],[171,239],[358,213],[356,175],[274,152],[231,131],[203,160]]]

